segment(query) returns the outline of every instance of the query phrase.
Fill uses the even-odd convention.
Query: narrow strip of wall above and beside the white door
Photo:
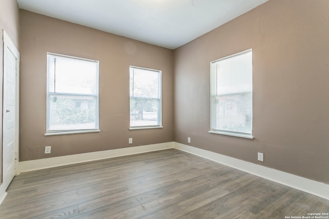
[[[19,30],[20,30],[19,6],[13,0],[1,0],[0,6],[0,96],[2,97],[2,80],[3,80],[3,40],[2,31],[6,31],[11,41],[19,50]],[[2,101],[0,101],[0,185],[2,182]]]

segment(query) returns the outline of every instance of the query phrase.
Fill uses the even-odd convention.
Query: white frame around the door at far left
[[[19,51],[16,49],[15,45],[12,43],[11,39],[9,38],[8,34],[6,33],[5,30],[2,30],[2,43],[3,43],[3,65],[1,66],[1,68],[3,69],[3,75],[2,75],[2,90],[4,87],[4,75],[5,75],[5,69],[4,69],[4,61],[5,61],[5,51],[6,48],[8,48],[12,54],[15,56],[16,58],[16,75],[15,75],[15,175],[18,175],[19,172],[19,144],[20,144],[20,53]],[[3,91],[4,92],[4,91]],[[4,95],[2,96],[2,114],[4,112]],[[3,129],[3,115],[2,115],[2,129]],[[2,130],[3,132],[3,130]],[[3,133],[2,133],[2,137],[3,137]],[[1,140],[3,143],[3,139]],[[3,147],[3,144],[2,144]],[[3,156],[3,155],[2,155]],[[3,166],[3,165],[2,165]],[[3,174],[2,174],[3,177]],[[2,178],[2,182],[4,182],[3,178]],[[6,187],[6,188],[5,188]],[[7,195],[6,192],[7,189],[7,185],[4,185],[4,183],[2,183],[0,185],[0,204],[1,202],[4,200],[5,196]]]

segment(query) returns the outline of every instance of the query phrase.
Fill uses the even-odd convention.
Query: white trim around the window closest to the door
[[[51,93],[54,95],[70,95],[70,96],[89,96],[89,97],[96,97],[97,102],[97,118],[95,120],[96,127],[95,129],[77,129],[77,130],[54,130],[49,131],[49,121],[48,121],[48,105],[49,105],[49,97],[51,94],[49,93],[49,82],[48,82],[48,55],[57,56],[57,57],[64,57],[64,58],[72,58],[72,59],[78,59],[81,61],[87,61],[87,62],[95,62],[97,63],[97,95],[95,94],[75,94],[75,93]],[[46,90],[46,133],[45,136],[48,135],[61,135],[61,134],[77,134],[77,133],[90,133],[90,132],[100,132],[99,129],[99,61],[89,58],[82,58],[77,56],[71,56],[71,55],[64,55],[64,54],[58,54],[58,53],[52,53],[47,52],[47,90]]]

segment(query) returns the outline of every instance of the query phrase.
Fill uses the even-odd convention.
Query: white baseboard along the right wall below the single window
[[[329,200],[329,185],[230,156],[174,142],[174,148]]]

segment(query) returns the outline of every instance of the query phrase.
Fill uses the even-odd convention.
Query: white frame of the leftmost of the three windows
[[[77,93],[60,93],[60,92],[49,92],[49,58],[50,57],[61,57],[61,58],[69,58],[69,59],[78,59],[79,61],[87,61],[87,62],[95,62],[97,63],[97,79],[96,79],[96,87],[97,94],[77,94]],[[93,129],[68,129],[68,130],[50,130],[50,107],[49,101],[51,96],[72,96],[72,97],[92,97],[96,99],[96,120],[95,120],[95,128]],[[47,116],[46,116],[46,133],[45,135],[59,135],[59,134],[75,134],[75,133],[87,133],[87,132],[100,132],[99,130],[99,61],[81,57],[75,57],[70,55],[63,55],[57,53],[47,52]]]

